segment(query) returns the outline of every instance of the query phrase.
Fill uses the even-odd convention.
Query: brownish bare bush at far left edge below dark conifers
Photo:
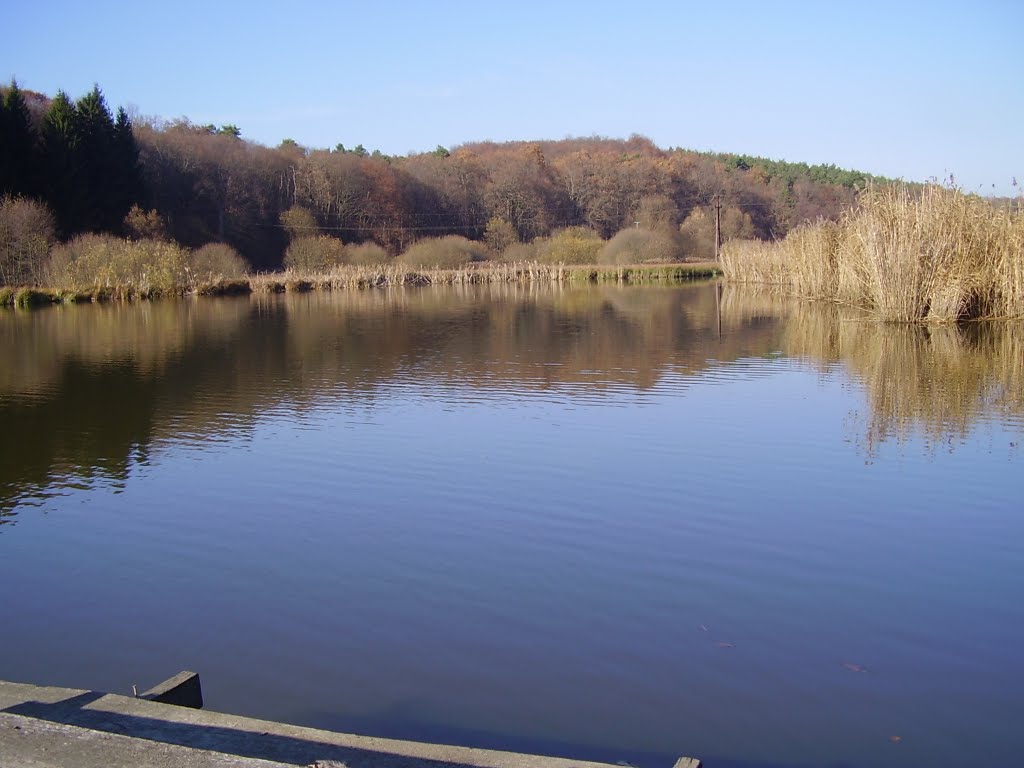
[[[36,285],[53,243],[53,215],[42,203],[0,200],[0,285]]]

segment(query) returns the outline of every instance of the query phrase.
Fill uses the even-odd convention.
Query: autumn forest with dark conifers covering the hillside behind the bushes
[[[709,258],[712,206],[728,238],[778,238],[835,218],[866,174],[833,166],[662,150],[642,136],[467,143],[387,157],[361,145],[267,147],[233,125],[113,116],[98,87],[78,101],[4,89],[0,194],[42,201],[55,234],[232,246],[258,269],[282,265],[297,217],[310,237],[374,243],[394,256],[426,238],[462,236],[492,251],[585,227],[679,236]],[[306,215],[308,214],[308,215]],[[291,227],[289,229],[288,227]]]

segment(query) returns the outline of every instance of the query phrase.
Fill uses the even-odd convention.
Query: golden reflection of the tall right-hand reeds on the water
[[[1024,324],[902,326],[856,310],[729,288],[723,315],[740,328],[781,325],[780,348],[863,386],[865,413],[851,437],[868,454],[886,440],[925,435],[930,446],[967,439],[979,422],[1024,424]]]

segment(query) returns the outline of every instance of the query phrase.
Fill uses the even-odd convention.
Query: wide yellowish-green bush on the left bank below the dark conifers
[[[188,258],[176,243],[81,234],[50,253],[46,282],[61,290],[122,297],[177,293],[188,284]]]

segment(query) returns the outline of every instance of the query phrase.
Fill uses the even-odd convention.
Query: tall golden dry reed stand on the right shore
[[[863,307],[899,323],[1024,316],[1024,215],[956,189],[872,188],[837,222],[733,241],[730,281]]]

